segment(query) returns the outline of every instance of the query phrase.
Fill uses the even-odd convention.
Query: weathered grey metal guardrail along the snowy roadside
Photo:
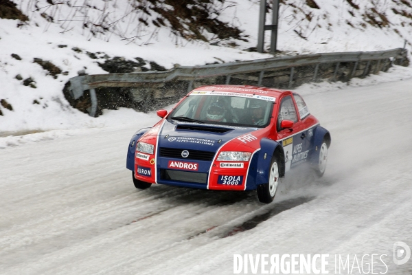
[[[253,61],[241,61],[236,63],[223,63],[195,67],[177,67],[167,72],[138,72],[124,74],[95,74],[87,76],[76,76],[70,78],[70,94],[76,100],[83,96],[84,91],[89,90],[91,96],[91,108],[89,114],[95,116],[98,100],[95,88],[98,87],[137,87],[142,83],[165,83],[171,80],[188,81],[187,91],[192,90],[193,81],[196,79],[226,76],[226,84],[230,83],[231,75],[260,72],[258,85],[262,83],[263,73],[266,70],[290,68],[290,82],[292,83],[294,68],[306,65],[315,65],[313,80],[317,80],[319,65],[323,63],[336,63],[334,77],[341,63],[354,62],[351,78],[354,76],[358,63],[367,61],[365,74],[368,72],[371,61],[388,58],[398,59],[407,56],[407,50],[396,48],[387,51],[376,52],[338,52],[324,54],[308,54],[303,56],[282,56],[274,58],[258,59]]]

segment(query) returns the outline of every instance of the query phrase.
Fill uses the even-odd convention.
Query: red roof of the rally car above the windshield
[[[198,87],[193,91],[227,91],[230,93],[238,94],[262,94],[277,98],[281,94],[287,92],[288,90],[258,87],[251,85],[207,85]]]

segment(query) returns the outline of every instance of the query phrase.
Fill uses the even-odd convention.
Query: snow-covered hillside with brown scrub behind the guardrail
[[[256,45],[258,0],[215,1],[212,10],[219,10],[220,14],[211,14],[211,17],[242,30],[243,40],[222,40],[205,28],[199,30],[213,45],[175,36],[170,24],[157,28],[150,22],[159,14],[133,10],[132,1],[65,1],[51,5],[52,1],[21,0],[15,3],[30,21],[0,19],[0,100],[12,106],[12,111],[0,106],[2,136],[11,132],[99,127],[123,123],[121,118],[126,116],[138,120],[140,114],[133,111],[107,112],[102,118],[91,119],[69,107],[62,96],[67,80],[79,71],[104,74],[97,63],[103,63],[106,58],[122,56],[135,61],[138,57],[170,69],[175,64],[203,65],[269,56],[244,51]],[[141,3],[151,7],[149,1]],[[412,41],[409,0],[316,0],[315,3],[318,8],[298,0],[280,5],[278,49],[282,54],[389,50],[402,47],[404,39]],[[270,23],[269,15],[267,23]],[[268,41],[269,33],[266,34]],[[408,43],[407,48],[410,46]],[[95,54],[95,59],[91,54]],[[62,74],[55,79],[34,63],[34,58],[51,61]],[[21,80],[16,79],[18,75]],[[34,80],[32,84],[36,88],[23,85],[27,78]]]

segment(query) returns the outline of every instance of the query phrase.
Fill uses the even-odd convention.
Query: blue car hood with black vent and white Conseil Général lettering
[[[220,146],[257,128],[170,122],[165,120],[159,133],[159,147],[217,151]],[[238,143],[238,142],[236,142]]]

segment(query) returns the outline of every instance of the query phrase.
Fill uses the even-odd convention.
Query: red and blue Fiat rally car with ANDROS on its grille
[[[325,173],[330,133],[293,91],[203,86],[157,115],[162,119],[128,146],[136,188],[257,190],[259,201],[270,203],[290,169],[310,164]]]

